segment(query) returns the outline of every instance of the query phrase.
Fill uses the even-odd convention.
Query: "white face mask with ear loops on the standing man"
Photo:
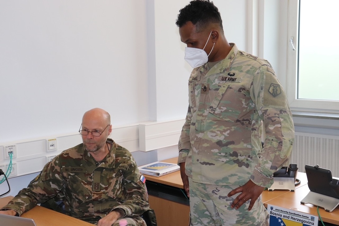
[[[210,40],[211,34],[212,34],[212,32],[208,36],[208,39],[207,39],[206,44],[205,44],[203,49],[193,48],[193,47],[186,47],[185,48],[184,59],[187,61],[188,64],[191,65],[191,67],[193,67],[193,68],[200,67],[201,65],[204,65],[205,63],[208,62],[208,56],[210,56],[210,54],[212,53],[212,50],[214,48],[215,43],[213,43],[213,47],[211,49],[211,52],[208,55],[207,55],[207,53],[205,52],[204,49],[207,45],[208,40]]]

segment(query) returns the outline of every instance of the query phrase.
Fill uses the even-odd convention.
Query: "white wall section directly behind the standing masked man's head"
[[[175,24],[189,0],[154,1],[157,120],[178,119],[188,107],[188,78],[192,68],[184,60],[185,44]],[[246,0],[214,0],[229,42],[246,48]],[[176,106],[176,107],[173,107]]]

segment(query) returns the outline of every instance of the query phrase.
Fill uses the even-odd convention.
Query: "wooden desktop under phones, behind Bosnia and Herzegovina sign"
[[[310,189],[307,184],[299,187],[294,192],[287,192],[275,199],[269,200],[264,203],[265,207],[267,204],[279,206],[285,209],[296,210],[312,215],[317,215],[317,207],[312,204],[301,204],[300,201],[305,198]],[[323,222],[339,225],[339,208],[335,208],[332,212],[327,212],[323,208],[319,207],[319,213]],[[320,219],[319,219],[320,220]]]

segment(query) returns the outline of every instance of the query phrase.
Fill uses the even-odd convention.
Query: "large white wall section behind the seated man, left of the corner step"
[[[1,1],[0,142],[147,119],[145,1]],[[128,16],[126,16],[128,15]]]

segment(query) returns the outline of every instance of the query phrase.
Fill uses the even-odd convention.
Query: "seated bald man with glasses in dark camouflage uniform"
[[[81,128],[80,128],[81,129]],[[0,211],[21,215],[38,203],[58,201],[60,212],[97,225],[145,225],[149,209],[145,180],[131,153],[107,139],[109,114],[99,108],[82,118],[83,143],[63,151]]]

